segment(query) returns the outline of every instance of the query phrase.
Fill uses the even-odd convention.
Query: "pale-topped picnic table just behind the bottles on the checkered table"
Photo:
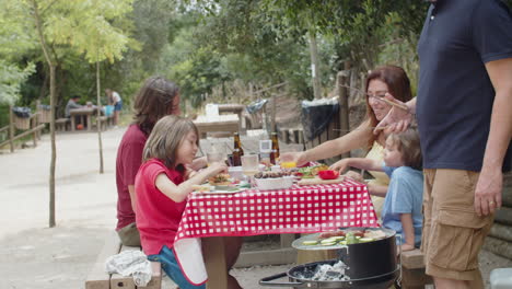
[[[194,124],[199,131],[200,138],[206,138],[207,132],[226,131],[234,134],[240,130],[240,122],[236,114],[218,115],[214,117],[199,115],[194,120]]]

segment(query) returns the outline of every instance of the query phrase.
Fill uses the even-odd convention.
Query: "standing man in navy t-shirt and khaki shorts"
[[[437,288],[484,288],[478,253],[512,159],[512,16],[500,0],[430,2],[418,97],[408,112],[394,107],[376,130],[404,130],[417,114],[427,274]]]

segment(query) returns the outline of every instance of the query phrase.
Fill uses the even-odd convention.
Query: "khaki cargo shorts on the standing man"
[[[481,279],[478,253],[493,216],[474,209],[478,172],[424,170],[421,250],[427,274],[455,280]]]

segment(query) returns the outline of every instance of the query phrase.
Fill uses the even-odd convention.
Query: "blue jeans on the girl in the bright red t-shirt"
[[[167,274],[168,278],[171,278],[181,289],[206,289],[205,284],[193,285],[187,280],[176,262],[174,252],[166,245],[162,247],[158,255],[149,255],[148,259],[160,262],[160,264],[162,264],[162,269]]]

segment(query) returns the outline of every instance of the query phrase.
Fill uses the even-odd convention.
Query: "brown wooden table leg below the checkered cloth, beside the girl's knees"
[[[225,265],[224,238],[202,238],[202,257],[208,273],[208,289],[228,288],[228,271]]]

